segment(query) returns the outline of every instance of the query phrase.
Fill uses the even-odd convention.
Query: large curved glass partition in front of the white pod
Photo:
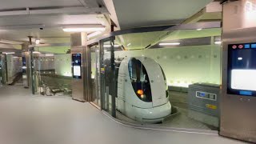
[[[99,63],[98,106],[124,122],[218,130],[221,32],[165,30],[100,40],[98,51],[91,47],[92,72]]]

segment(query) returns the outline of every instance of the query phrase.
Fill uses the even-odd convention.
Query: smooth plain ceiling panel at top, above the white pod
[[[121,29],[181,23],[212,0],[113,0]]]

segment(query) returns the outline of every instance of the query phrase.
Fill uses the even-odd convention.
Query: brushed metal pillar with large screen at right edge
[[[256,142],[256,1],[223,5],[220,134]]]

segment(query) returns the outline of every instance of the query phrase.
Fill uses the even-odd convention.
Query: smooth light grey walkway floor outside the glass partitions
[[[0,87],[1,144],[242,143],[218,135],[141,130],[120,125],[70,98],[30,95],[22,86]]]

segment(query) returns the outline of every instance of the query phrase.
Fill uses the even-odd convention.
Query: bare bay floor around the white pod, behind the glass
[[[198,130],[218,130],[217,127],[207,125],[202,122],[198,122],[192,118],[188,117],[188,103],[187,103],[187,93],[174,92],[170,93],[170,103],[172,106],[178,108],[178,113],[170,116],[164,120],[164,122],[159,124],[154,124],[158,126],[174,127],[174,128],[186,128],[186,129],[198,129]],[[131,118],[117,112],[117,118],[130,123],[144,124],[142,122],[136,122]]]

